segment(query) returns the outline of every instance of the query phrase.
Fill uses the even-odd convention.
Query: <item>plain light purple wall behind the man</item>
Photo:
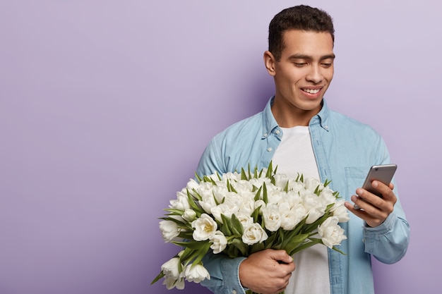
[[[158,217],[215,133],[273,94],[268,23],[298,1],[1,1],[0,293],[209,293],[150,281]],[[333,109],[398,164],[411,243],[376,290],[441,293],[438,1],[306,1],[335,20]]]

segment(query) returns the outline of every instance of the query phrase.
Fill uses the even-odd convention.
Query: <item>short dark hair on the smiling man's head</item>
[[[335,28],[328,13],[306,5],[286,8],[277,13],[268,27],[268,51],[280,61],[285,44],[282,39],[286,30],[305,30],[313,32],[330,32],[335,42]]]

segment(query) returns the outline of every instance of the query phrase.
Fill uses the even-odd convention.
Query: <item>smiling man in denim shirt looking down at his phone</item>
[[[383,198],[360,187],[369,167],[390,163],[386,145],[368,125],[328,109],[323,99],[333,79],[334,28],[328,13],[295,6],[270,22],[265,68],[275,81],[275,96],[255,116],[216,135],[205,149],[197,173],[267,167],[278,172],[332,180],[342,197],[352,195],[350,221],[342,223],[346,255],[315,245],[289,257],[263,250],[248,258],[208,254],[203,259],[214,293],[374,293],[371,255],[387,264],[407,250],[409,226],[393,183],[372,185]],[[365,201],[363,201],[364,199]],[[347,199],[350,200],[350,199]],[[295,270],[296,268],[296,270]]]

